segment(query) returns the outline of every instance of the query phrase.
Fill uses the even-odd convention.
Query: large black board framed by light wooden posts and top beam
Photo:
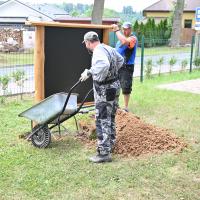
[[[101,42],[108,44],[108,25],[72,24],[59,22],[27,22],[35,26],[34,77],[35,101],[68,91],[91,66],[83,36],[88,31],[98,33]],[[92,79],[83,82],[74,92],[78,101],[92,88]],[[93,101],[90,95],[87,102]]]

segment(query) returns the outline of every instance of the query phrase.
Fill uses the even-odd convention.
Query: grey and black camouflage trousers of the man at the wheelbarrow
[[[115,114],[118,107],[120,83],[99,85],[94,83],[96,109],[97,151],[106,155],[115,144]]]

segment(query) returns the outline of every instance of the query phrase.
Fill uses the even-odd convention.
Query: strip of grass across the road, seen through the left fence
[[[0,67],[33,64],[33,52],[0,53]]]

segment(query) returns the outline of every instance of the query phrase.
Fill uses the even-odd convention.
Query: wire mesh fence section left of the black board
[[[34,92],[33,50],[0,52],[0,95]]]

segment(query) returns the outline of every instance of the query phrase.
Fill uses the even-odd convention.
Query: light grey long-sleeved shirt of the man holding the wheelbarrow
[[[105,44],[98,44],[92,55],[92,66],[89,72],[95,81],[104,81],[108,75],[110,63],[119,70],[124,62],[124,58],[112,47]]]

